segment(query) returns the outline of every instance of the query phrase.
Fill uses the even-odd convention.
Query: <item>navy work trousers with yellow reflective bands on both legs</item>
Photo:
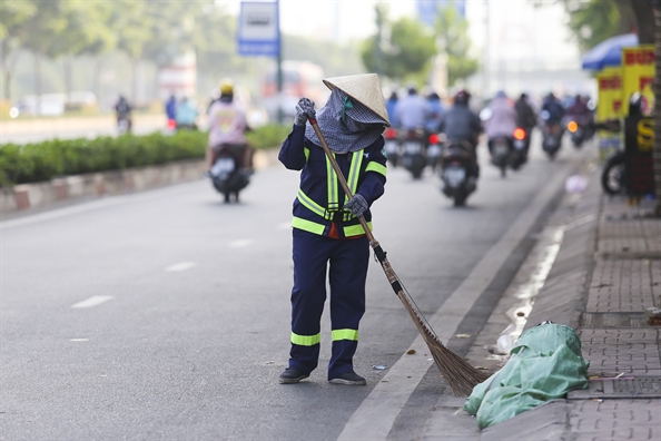
[[[328,268],[333,330],[328,380],[333,380],[353,371],[353,356],[358,345],[358,323],[365,313],[369,242],[365,236],[334,239],[298,228],[294,228],[293,236],[294,288],[289,367],[305,373],[317,367]]]

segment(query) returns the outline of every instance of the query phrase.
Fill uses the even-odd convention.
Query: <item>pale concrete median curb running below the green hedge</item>
[[[277,163],[277,148],[255,151],[255,169],[272,167]],[[90,173],[56,178],[45,183],[0,188],[0,213],[4,216],[34,208],[46,208],[65,202],[124,195],[188,183],[203,179],[205,168],[204,160],[189,159],[162,166]]]

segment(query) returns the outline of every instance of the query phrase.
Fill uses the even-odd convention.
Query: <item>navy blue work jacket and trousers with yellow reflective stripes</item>
[[[383,137],[368,147],[335,159],[352,193],[369,205],[384,193],[386,157]],[[365,281],[369,243],[357,217],[344,210],[347,197],[322,147],[294,128],[280,148],[279,160],[300,170],[294,200],[292,290],[292,350],[289,367],[304,373],[317,367],[320,320],[326,301],[326,268],[331,285],[332,356],[328,380],[353,371],[358,323],[365,313]],[[372,214],[363,216],[372,228]]]

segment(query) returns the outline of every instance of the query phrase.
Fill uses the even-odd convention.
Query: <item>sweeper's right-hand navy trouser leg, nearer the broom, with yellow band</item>
[[[333,349],[328,380],[354,369],[358,323],[365,313],[365,281],[369,263],[367,237],[335,242],[329,267]]]

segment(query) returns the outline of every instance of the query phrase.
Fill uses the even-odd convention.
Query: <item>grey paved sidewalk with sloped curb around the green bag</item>
[[[562,231],[562,242],[524,326],[551,320],[573,327],[590,362],[589,389],[482,432],[474,418],[457,412],[464,399],[445,398],[425,439],[661,440],[661,326],[643,316],[661,307],[661,219],[649,215],[653,202],[630,207],[624,197],[604,196],[599,174],[590,173],[583,194],[565,195],[549,222],[547,228]],[[512,308],[500,313],[515,315]],[[484,364],[484,342],[493,344],[505,323],[482,330],[491,335],[477,339],[471,362],[482,351]],[[497,369],[497,357],[486,367]]]

